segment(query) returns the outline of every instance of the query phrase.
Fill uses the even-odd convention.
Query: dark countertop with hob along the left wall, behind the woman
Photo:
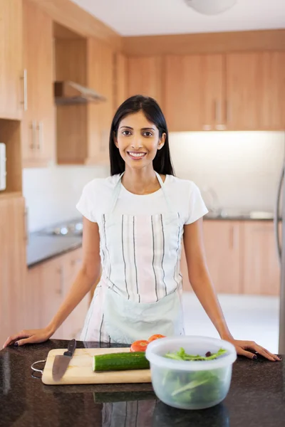
[[[28,268],[31,268],[43,261],[80,248],[81,245],[81,236],[44,236],[31,233],[26,249],[26,263]]]

